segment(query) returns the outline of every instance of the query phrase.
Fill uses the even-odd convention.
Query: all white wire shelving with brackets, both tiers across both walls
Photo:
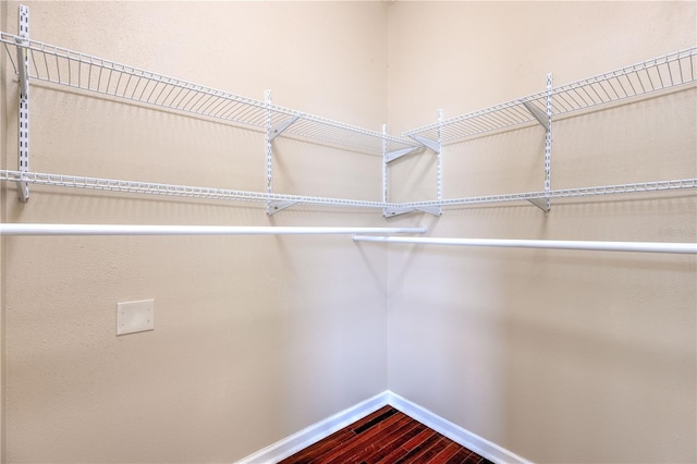
[[[677,191],[697,187],[697,179],[680,179],[634,184],[602,185],[579,188],[551,190],[549,186],[549,151],[551,147],[552,117],[570,114],[617,101],[631,100],[647,94],[658,93],[697,81],[697,47],[669,53],[638,64],[609,73],[598,74],[575,83],[551,86],[548,76],[546,91],[497,105],[488,109],[463,114],[449,120],[408,131],[403,136],[345,124],[327,118],[307,114],[266,101],[242,97],[193,84],[175,77],[120,64],[102,58],[81,53],[66,48],[44,44],[0,32],[0,42],[8,52],[8,61],[20,77],[20,93],[30,80],[56,86],[65,86],[115,99],[164,108],[174,112],[189,113],[203,118],[266,132],[267,138],[267,192],[249,192],[229,188],[151,183],[138,180],[88,178],[69,174],[34,172],[28,163],[20,170],[0,170],[0,180],[28,184],[60,186],[82,190],[111,191],[142,195],[164,195],[213,200],[262,202],[269,209],[282,209],[292,204],[330,207],[355,207],[380,209],[386,216],[412,210],[440,213],[441,207],[457,207],[474,204],[502,202],[529,202],[549,210],[551,199],[588,197],[598,195],[637,194]],[[14,53],[13,53],[14,52]],[[24,62],[25,65],[21,65]],[[25,94],[28,93],[24,89]],[[270,95],[268,96],[270,97]],[[463,198],[393,203],[388,200],[387,163],[421,147],[436,149],[464,142],[473,136],[517,127],[538,122],[546,127],[545,191]],[[277,136],[317,141],[332,146],[380,155],[383,158],[383,195],[380,202],[329,198],[319,196],[273,193],[270,188],[271,148]],[[430,142],[433,142],[432,144]],[[440,178],[439,178],[440,182]],[[28,190],[27,190],[28,193]],[[440,193],[440,183],[439,183]],[[22,196],[22,195],[21,195]],[[267,210],[268,210],[267,209]],[[391,211],[387,213],[386,211]]]

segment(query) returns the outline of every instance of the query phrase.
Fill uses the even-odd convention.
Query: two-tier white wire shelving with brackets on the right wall
[[[529,202],[545,211],[549,211],[552,199],[696,188],[697,179],[563,190],[552,190],[550,183],[551,129],[554,119],[602,109],[613,103],[635,101],[661,91],[693,88],[695,83],[697,83],[697,47],[692,47],[558,87],[551,85],[550,74],[547,77],[546,91],[451,119],[441,119],[435,123],[407,131],[403,134],[404,136],[421,143],[432,143],[432,146],[436,147],[432,149],[440,156],[441,147],[464,143],[470,138],[491,133],[539,123],[546,130],[545,190],[540,192],[412,202],[401,204],[400,210],[425,210],[425,208],[502,202]],[[440,174],[437,182],[440,191],[442,183]]]

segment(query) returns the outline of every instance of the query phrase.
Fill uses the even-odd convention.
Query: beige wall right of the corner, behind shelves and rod
[[[694,46],[694,2],[396,2],[393,132]],[[696,90],[559,120],[552,187],[694,178]],[[542,190],[539,126],[443,152],[445,197]],[[435,159],[391,168],[435,197]],[[392,222],[392,221],[391,221]],[[429,235],[694,242],[694,194],[411,216]],[[535,462],[695,462],[694,256],[389,248],[389,389]]]

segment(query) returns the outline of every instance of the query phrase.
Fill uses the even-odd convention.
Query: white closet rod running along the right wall
[[[494,246],[505,248],[585,249],[597,252],[640,252],[697,254],[697,243],[592,242],[573,240],[435,239],[354,235],[354,242],[412,243],[424,245]]]

